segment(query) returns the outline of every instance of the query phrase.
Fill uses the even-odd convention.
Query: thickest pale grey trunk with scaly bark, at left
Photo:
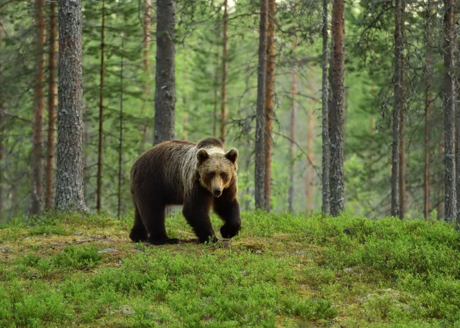
[[[82,1],[59,2],[56,207],[87,210],[83,194]]]

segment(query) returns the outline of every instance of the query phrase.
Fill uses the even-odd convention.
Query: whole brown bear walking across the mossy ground
[[[135,221],[133,242],[176,244],[164,228],[167,205],[183,205],[183,215],[200,242],[217,242],[210,224],[209,210],[224,221],[220,233],[235,236],[241,227],[240,205],[236,198],[238,150],[224,152],[224,144],[214,137],[199,143],[171,140],[147,150],[131,169],[131,195]]]

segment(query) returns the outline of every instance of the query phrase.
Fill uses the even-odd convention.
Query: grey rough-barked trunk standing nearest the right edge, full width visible
[[[457,217],[457,194],[455,190],[455,0],[444,0],[444,94],[443,108],[445,114],[445,220],[454,221]]]

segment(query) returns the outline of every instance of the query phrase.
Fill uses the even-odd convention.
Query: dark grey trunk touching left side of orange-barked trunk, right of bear
[[[261,0],[261,20],[259,25],[259,66],[257,69],[256,104],[256,159],[255,159],[255,202],[256,208],[266,209],[265,190],[265,101],[267,65],[267,23],[268,0]]]

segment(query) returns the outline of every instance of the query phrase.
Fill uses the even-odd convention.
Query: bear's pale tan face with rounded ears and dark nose
[[[231,148],[227,153],[222,149],[201,148],[197,153],[197,170],[202,187],[206,188],[213,196],[220,197],[225,188],[229,187],[230,182],[238,166],[236,159],[238,150]]]

